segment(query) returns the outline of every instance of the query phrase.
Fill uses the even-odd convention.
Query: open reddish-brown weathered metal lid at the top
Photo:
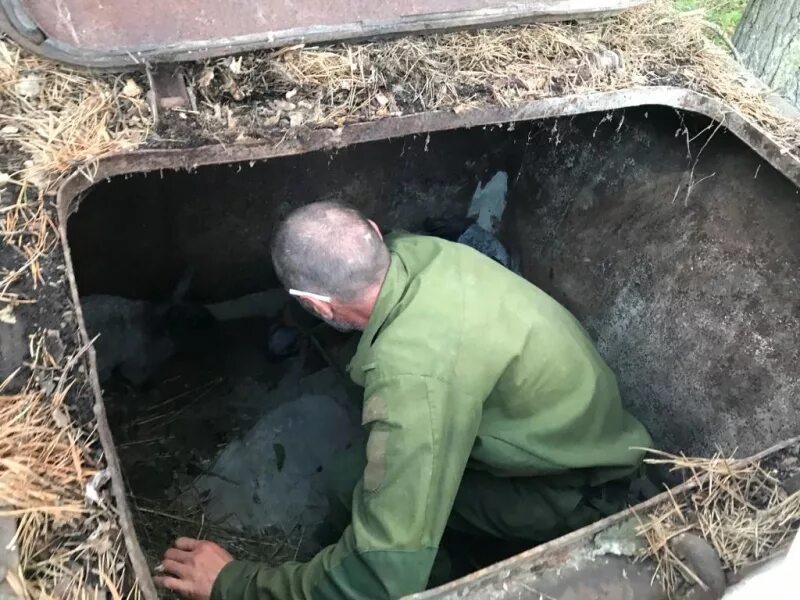
[[[0,29],[71,64],[123,67],[259,48],[619,12],[646,0],[0,0]]]

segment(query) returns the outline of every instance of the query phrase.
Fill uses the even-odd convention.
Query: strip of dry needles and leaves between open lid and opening
[[[702,12],[680,13],[672,2],[655,0],[581,24],[253,53],[198,65],[191,81],[200,122],[231,129],[248,120],[261,127],[335,127],[393,114],[677,85],[722,98],[785,150],[797,150],[797,121],[777,115],[763,90],[743,85],[739,67],[709,33]],[[609,61],[612,68],[604,64]],[[248,104],[253,101],[255,107]]]

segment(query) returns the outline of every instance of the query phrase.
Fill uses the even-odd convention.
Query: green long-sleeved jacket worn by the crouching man
[[[421,591],[468,466],[598,484],[635,470],[632,448],[650,444],[552,298],[464,245],[408,234],[387,243],[391,266],[348,367],[369,431],[352,524],[308,563],[228,564],[213,600]]]

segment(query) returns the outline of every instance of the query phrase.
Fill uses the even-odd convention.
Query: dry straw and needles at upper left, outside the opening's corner
[[[146,138],[150,119],[141,90],[126,96],[123,83],[0,40],[0,237],[22,257],[18,268],[3,274],[0,301],[32,301],[10,291],[25,276],[32,290],[43,283],[40,258],[57,241],[47,194],[76,169],[90,172],[98,156]]]

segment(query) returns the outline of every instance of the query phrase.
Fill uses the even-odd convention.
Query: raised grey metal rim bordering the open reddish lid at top
[[[195,61],[295,44],[352,42],[373,37],[438,33],[470,27],[592,19],[619,14],[648,1],[605,0],[600,4],[592,0],[561,0],[556,7],[544,7],[541,3],[536,3],[527,6],[520,4],[428,13],[391,21],[360,21],[341,25],[298,27],[231,38],[184,42],[160,48],[128,48],[120,52],[84,50],[78,46],[47,38],[43,42],[35,43],[19,31],[17,19],[13,16],[18,0],[0,0],[0,31],[26,50],[73,66],[96,69],[141,68],[150,62]]]

